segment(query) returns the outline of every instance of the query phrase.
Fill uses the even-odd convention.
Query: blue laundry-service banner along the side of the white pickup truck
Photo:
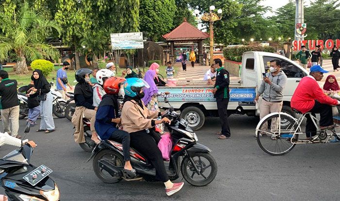
[[[159,92],[170,92],[166,95],[170,102],[178,101],[199,101],[210,102],[216,101],[212,88],[159,88]],[[255,99],[255,88],[231,88],[230,100],[233,102],[252,102]],[[164,97],[164,96],[162,96]],[[159,99],[162,101],[162,99]]]

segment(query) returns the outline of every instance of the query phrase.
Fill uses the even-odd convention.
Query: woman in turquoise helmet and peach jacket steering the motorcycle
[[[149,111],[143,101],[143,87],[149,85],[142,79],[129,78],[124,84],[124,103],[121,114],[121,124],[123,130],[130,133],[131,147],[143,154],[156,169],[156,179],[165,184],[166,194],[168,196],[181,190],[184,183],[173,184],[166,172],[161,151],[158,149],[157,139],[154,132],[150,132],[156,124],[162,122],[170,123],[167,117],[156,120],[158,112]],[[156,138],[156,139],[154,139]],[[156,142],[155,142],[156,141]]]

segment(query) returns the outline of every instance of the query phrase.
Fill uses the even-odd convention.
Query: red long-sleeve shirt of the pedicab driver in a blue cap
[[[322,88],[320,88],[313,77],[307,76],[302,78],[299,85],[296,87],[290,101],[290,106],[302,113],[306,113],[314,107],[315,100],[328,105],[338,104],[337,100],[332,99],[323,93]]]

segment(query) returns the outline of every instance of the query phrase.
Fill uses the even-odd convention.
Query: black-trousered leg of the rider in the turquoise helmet
[[[153,138],[146,132],[130,133],[131,146],[143,154],[156,169],[156,179],[161,182],[168,182],[169,177],[165,170],[161,151],[158,149]],[[172,185],[170,186],[170,188]]]

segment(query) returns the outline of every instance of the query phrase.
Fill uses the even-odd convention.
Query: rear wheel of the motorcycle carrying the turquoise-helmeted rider
[[[113,183],[117,183],[120,180],[122,180],[120,176],[112,176],[110,173],[104,170],[101,167],[101,164],[99,163],[99,160],[101,159],[106,159],[110,163],[112,163],[112,165],[121,167],[121,166],[124,166],[123,157],[116,151],[102,150],[98,152],[97,155],[93,158],[93,163],[92,163],[93,170],[96,176],[103,182],[113,184]]]

